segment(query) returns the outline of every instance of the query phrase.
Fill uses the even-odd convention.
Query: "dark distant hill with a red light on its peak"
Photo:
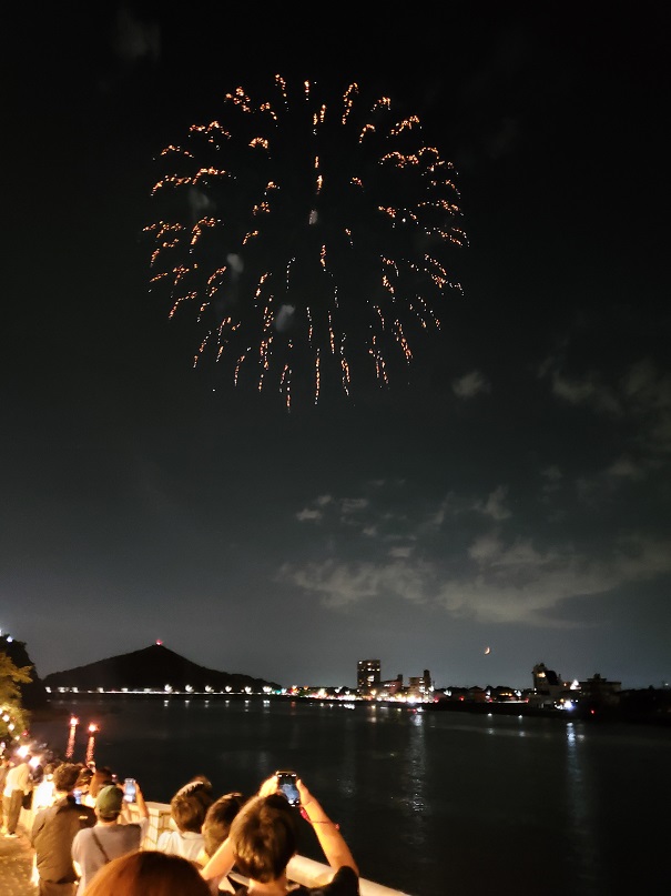
[[[164,691],[170,685],[173,691],[185,691],[189,685],[194,691],[234,692],[251,687],[261,692],[263,687],[279,688],[275,682],[253,678],[251,675],[217,672],[185,660],[162,644],[152,644],[141,651],[111,656],[87,666],[77,666],[64,672],[53,672],[43,679],[45,687],[77,687],[79,691]]]

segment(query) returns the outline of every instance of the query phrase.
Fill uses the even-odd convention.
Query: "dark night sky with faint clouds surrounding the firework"
[[[671,681],[665,4],[283,9],[6,13],[0,628],[40,675]],[[275,73],[418,115],[468,236],[409,366],[291,412],[193,369],[143,234],[161,150]]]

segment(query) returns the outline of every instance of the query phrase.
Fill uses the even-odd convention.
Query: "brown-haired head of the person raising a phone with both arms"
[[[276,880],[296,853],[294,809],[279,794],[254,796],[235,816],[230,839],[241,874],[260,884]]]

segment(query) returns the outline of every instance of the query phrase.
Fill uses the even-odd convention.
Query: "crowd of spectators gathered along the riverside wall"
[[[149,809],[138,782],[134,797],[108,767],[93,763],[31,764],[30,755],[0,758],[0,825],[17,837],[21,809],[30,811],[33,883],[39,896],[355,896],[358,868],[338,825],[305,784],[289,804],[276,775],[245,797],[216,798],[195,775],[172,797],[170,828],[145,843]],[[301,819],[317,837],[331,868],[318,886],[298,887],[287,875]]]

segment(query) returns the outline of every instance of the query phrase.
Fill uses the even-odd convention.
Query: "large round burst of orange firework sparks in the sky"
[[[275,383],[287,409],[307,383],[315,403],[331,380],[349,395],[366,369],[388,384],[392,355],[409,364],[460,291],[441,258],[466,242],[453,165],[416,115],[355,83],[332,110],[276,75],[262,102],[227,93],[221,120],[160,153],[161,218],[145,228],[151,286],[167,284],[170,318],[193,308],[203,326],[194,365],[212,353],[235,385]]]

